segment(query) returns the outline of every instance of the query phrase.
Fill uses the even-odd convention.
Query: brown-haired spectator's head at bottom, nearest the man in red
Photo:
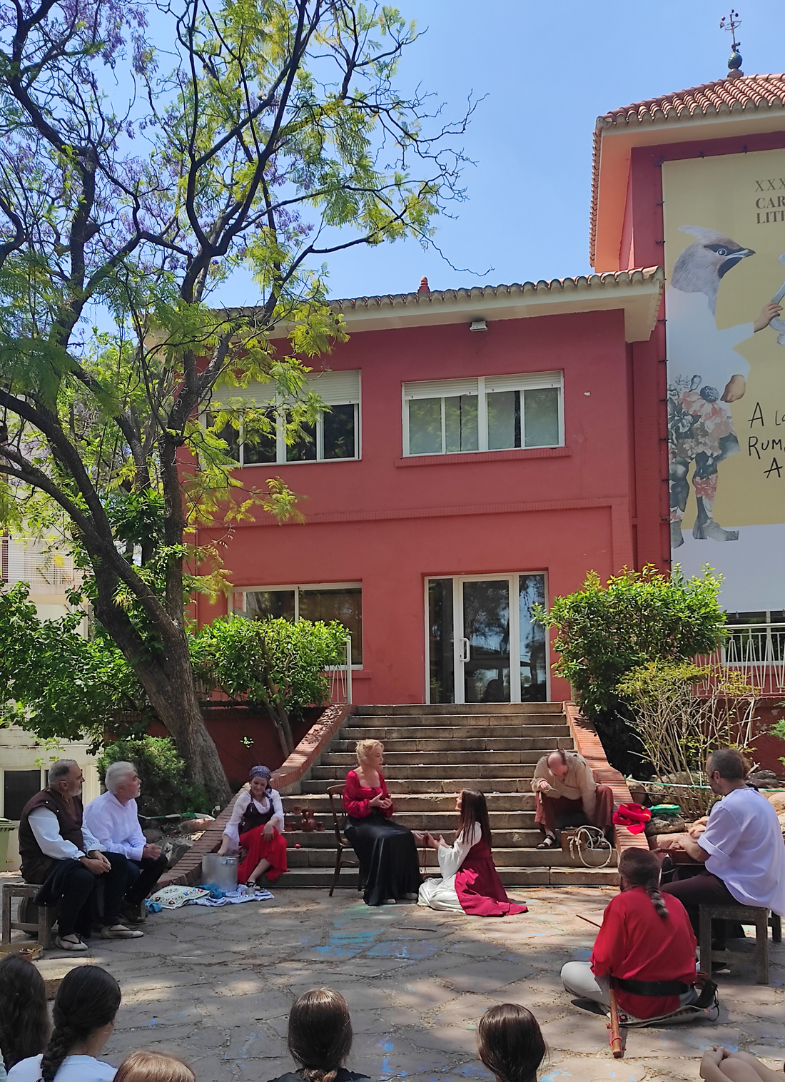
[[[485,1011],[477,1046],[497,1082],[534,1082],[548,1051],[537,1019],[517,1003],[498,1003]]]

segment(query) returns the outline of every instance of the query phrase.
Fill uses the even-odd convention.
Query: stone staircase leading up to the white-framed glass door
[[[395,818],[412,830],[427,829],[452,842],[455,794],[461,789],[484,792],[493,857],[505,886],[616,884],[615,854],[607,868],[595,869],[576,865],[560,848],[535,848],[542,835],[534,824],[534,766],[546,751],[557,744],[570,749],[573,742],[562,703],[532,702],[357,707],[321,765],[303,782],[302,794],[283,797],[284,810],[312,808],[324,830],[287,832],[290,871],[279,886],[329,887],[335,835],[327,789],[343,782],[356,764],[355,742],[365,737],[384,743],[384,776],[395,800]],[[427,857],[428,867],[438,873],[436,854],[428,850]],[[355,868],[344,866],[338,886],[357,887]]]

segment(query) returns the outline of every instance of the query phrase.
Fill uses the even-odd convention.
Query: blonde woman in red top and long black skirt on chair
[[[380,768],[384,744],[358,740],[357,768],[346,775],[344,809],[348,824],[344,831],[365,875],[367,906],[395,901],[416,901],[422,883],[417,846],[411,830],[394,822],[392,797]]]

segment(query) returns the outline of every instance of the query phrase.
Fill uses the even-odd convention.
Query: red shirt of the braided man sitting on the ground
[[[617,894],[602,918],[591,971],[623,980],[695,980],[695,936],[687,910],[678,898],[663,895],[667,920],[657,915],[642,886]],[[673,905],[676,902],[676,905]],[[677,1011],[678,995],[635,995],[616,990],[622,1010],[636,1018],[656,1018]]]

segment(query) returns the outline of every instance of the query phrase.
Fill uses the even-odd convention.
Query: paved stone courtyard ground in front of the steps
[[[614,894],[598,888],[516,892],[529,913],[457,918],[417,906],[369,909],[356,893],[281,889],[271,901],[188,907],[151,916],[144,939],[95,941],[90,960],[120,981],[123,1002],[105,1058],[132,1048],[177,1052],[199,1082],[265,1082],[291,1069],[287,1016],[294,997],[329,985],[348,1000],[349,1066],[375,1079],[485,1082],[476,1028],[493,1003],[514,1001],[540,1020],[550,1047],[544,1082],[697,1079],[702,1050],[723,1043],[782,1067],[785,946],[772,948],[771,985],[754,969],[720,978],[722,1011],[669,1029],[631,1030],[614,1060],[604,1019],[573,1007],[558,979],[587,959],[593,928]],[[751,947],[751,941],[749,944]],[[44,976],[74,964],[61,952]]]

